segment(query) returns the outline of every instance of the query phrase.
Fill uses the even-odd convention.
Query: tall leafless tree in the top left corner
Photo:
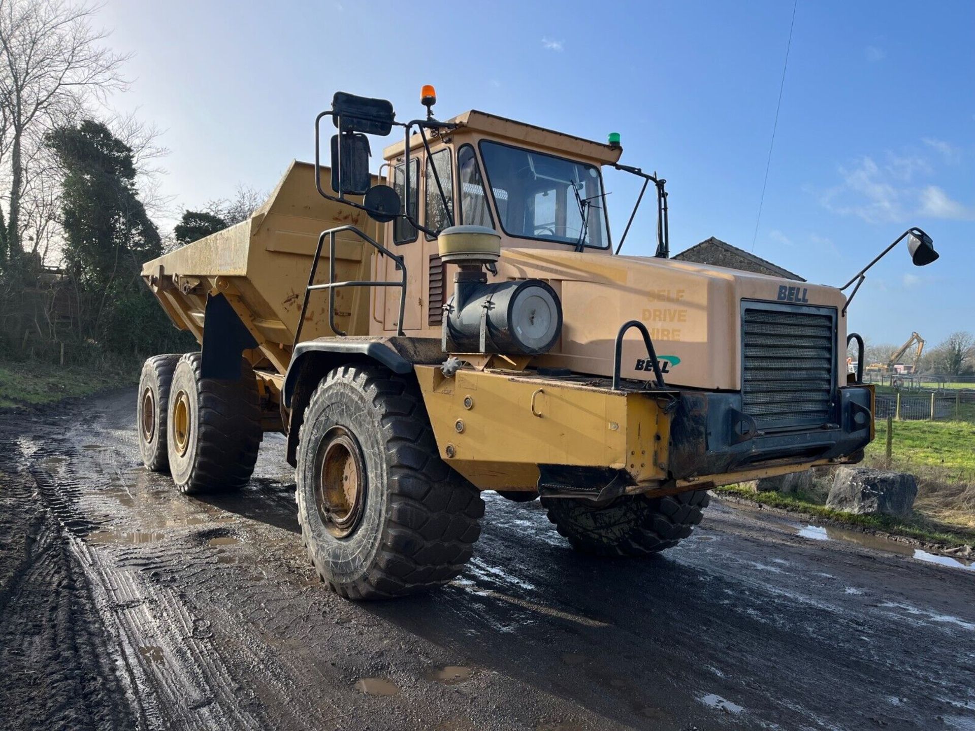
[[[127,56],[101,45],[98,7],[68,0],[0,0],[0,109],[10,137],[9,255],[22,251],[24,146],[37,128],[75,117],[92,96],[121,89]]]

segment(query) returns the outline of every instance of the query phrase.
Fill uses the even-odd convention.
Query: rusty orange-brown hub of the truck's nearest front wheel
[[[366,502],[366,470],[355,438],[333,427],[320,442],[315,471],[315,503],[326,529],[344,538],[359,525]]]

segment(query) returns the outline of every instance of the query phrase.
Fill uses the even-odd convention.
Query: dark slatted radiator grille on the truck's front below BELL
[[[742,404],[761,431],[833,421],[837,311],[742,303]]]

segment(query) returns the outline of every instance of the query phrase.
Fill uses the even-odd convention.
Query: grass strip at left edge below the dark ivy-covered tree
[[[54,404],[113,386],[134,384],[137,377],[137,369],[127,364],[85,367],[4,361],[0,362],[0,408]]]

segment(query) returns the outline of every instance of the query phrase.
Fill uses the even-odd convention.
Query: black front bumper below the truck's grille
[[[671,420],[671,476],[721,475],[855,454],[871,440],[871,390],[837,389],[836,423],[761,432],[742,411],[741,394],[682,391]]]

